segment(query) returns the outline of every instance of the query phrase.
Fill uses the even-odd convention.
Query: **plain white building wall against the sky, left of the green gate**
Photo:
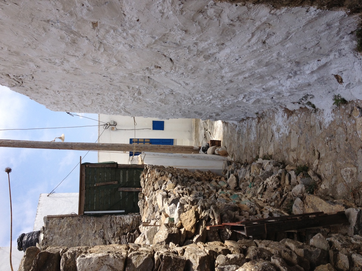
[[[79,193],[40,194],[33,231],[44,225],[44,216],[78,214]],[[25,232],[26,233],[26,232]]]

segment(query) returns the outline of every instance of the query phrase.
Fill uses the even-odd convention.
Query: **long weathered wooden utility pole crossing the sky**
[[[198,153],[199,147],[179,145],[143,145],[136,144],[136,152],[161,152],[161,153]],[[79,151],[134,151],[133,144],[120,143],[81,143],[81,142],[48,142],[0,139],[0,147],[54,149],[54,150],[79,150]]]

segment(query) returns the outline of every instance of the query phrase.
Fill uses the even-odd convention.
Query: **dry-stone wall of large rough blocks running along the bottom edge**
[[[186,246],[105,245],[28,248],[19,271],[328,271],[362,268],[362,237],[321,233],[310,245],[288,238],[197,242]]]

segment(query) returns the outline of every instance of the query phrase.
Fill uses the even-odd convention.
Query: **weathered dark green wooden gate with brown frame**
[[[144,165],[115,162],[80,166],[78,214],[129,214],[139,212],[140,175]]]

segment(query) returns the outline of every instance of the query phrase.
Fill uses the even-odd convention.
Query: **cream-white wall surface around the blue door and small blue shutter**
[[[111,127],[104,130],[100,126],[98,134],[100,134],[100,143],[130,143],[130,138],[171,138],[174,139],[174,145],[193,146],[193,120],[192,119],[169,119],[162,120],[165,122],[164,130],[152,130],[152,121],[160,119],[135,117],[137,125],[134,126],[133,117],[99,115],[100,124],[103,122],[117,122],[117,129],[112,130]],[[136,130],[135,129],[145,129]],[[136,132],[136,134],[135,134]],[[98,152],[98,162],[114,161],[118,164],[128,164],[129,153],[122,152]]]

